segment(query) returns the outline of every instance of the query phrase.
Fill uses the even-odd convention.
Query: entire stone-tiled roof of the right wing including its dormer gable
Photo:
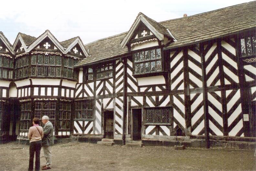
[[[132,40],[140,38],[136,37],[136,33],[139,31],[143,33],[144,30],[138,29],[143,24],[148,29],[148,31],[144,31],[144,33],[147,32],[146,36],[150,36],[152,33],[151,36],[162,41],[163,49],[194,44],[245,30],[253,29],[255,31],[255,9],[256,1],[252,1],[163,22],[156,22],[143,13],[139,13],[128,32],[84,45],[90,56],[81,60],[75,67],[128,54],[131,50]],[[141,26],[139,26],[140,24]],[[167,41],[163,41],[165,38]],[[129,45],[128,42],[130,42]],[[127,45],[130,46],[129,50]]]

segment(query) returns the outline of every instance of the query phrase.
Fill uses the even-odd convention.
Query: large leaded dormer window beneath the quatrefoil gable
[[[162,71],[161,49],[151,49],[133,53],[134,74]]]

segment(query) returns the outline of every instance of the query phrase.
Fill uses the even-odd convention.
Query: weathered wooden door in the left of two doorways
[[[104,137],[114,139],[114,113],[113,111],[104,112]]]

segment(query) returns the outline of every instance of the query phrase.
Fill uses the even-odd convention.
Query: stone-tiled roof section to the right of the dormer
[[[256,1],[160,23],[177,39],[166,48],[187,45],[256,27]]]

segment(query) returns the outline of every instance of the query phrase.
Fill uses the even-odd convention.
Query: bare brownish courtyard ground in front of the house
[[[19,149],[23,148],[24,149]],[[254,151],[101,146],[69,142],[52,147],[51,170],[256,170]],[[27,170],[29,146],[0,144],[0,170]],[[41,166],[45,163],[41,150]]]

